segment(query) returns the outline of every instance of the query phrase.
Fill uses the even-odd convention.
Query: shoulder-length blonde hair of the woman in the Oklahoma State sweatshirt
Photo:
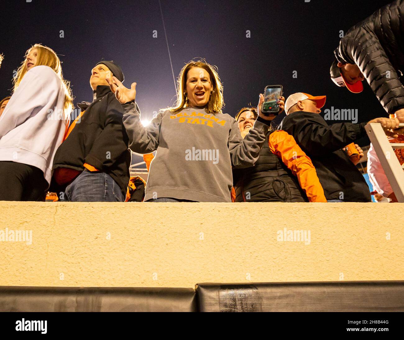
[[[186,82],[188,71],[192,67],[200,67],[206,70],[209,73],[210,81],[212,82],[213,93],[210,94],[205,111],[212,114],[221,113],[222,107],[225,106],[223,101],[223,85],[220,82],[219,75],[217,74],[217,67],[209,65],[206,63],[205,59],[198,61],[191,60],[181,69],[177,79],[177,101],[175,102],[174,106],[168,107],[166,110],[170,110],[172,113],[179,113],[182,109],[189,106],[188,96],[185,94],[185,91],[187,89]]]

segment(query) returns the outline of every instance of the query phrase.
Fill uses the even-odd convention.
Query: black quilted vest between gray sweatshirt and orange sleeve
[[[272,132],[274,131],[267,132],[264,146],[259,152],[259,158],[254,166],[233,169],[236,202],[309,201],[301,189],[297,177],[269,149],[269,135]]]

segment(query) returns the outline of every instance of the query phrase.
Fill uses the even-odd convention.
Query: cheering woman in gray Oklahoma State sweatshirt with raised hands
[[[135,105],[136,83],[130,89],[115,77],[108,83],[124,108],[129,148],[143,154],[157,150],[145,201],[231,202],[231,169],[255,164],[268,117],[259,110],[254,128],[243,140],[237,121],[221,111],[223,86],[205,61],[190,61],[183,67],[177,105],[161,110],[146,127]],[[262,102],[261,94],[259,108]]]

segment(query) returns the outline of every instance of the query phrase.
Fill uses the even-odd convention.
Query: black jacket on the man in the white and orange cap
[[[366,134],[365,125],[327,125],[317,113],[298,111],[287,115],[280,128],[292,135],[310,157],[326,199],[370,202],[369,187],[364,177],[342,150]]]

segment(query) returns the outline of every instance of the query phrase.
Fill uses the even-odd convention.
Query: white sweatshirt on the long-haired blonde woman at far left
[[[64,102],[63,83],[53,69],[30,69],[0,117],[0,161],[36,166],[50,183],[53,157],[69,124]]]

